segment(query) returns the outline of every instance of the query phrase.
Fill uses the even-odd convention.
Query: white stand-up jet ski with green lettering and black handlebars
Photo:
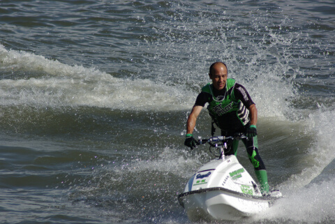
[[[225,149],[234,139],[246,138],[243,134],[210,137],[198,140],[198,145],[209,144],[209,151],[217,158],[199,168],[179,195],[191,221],[234,221],[253,216],[268,209],[281,197],[279,191],[262,195],[247,170],[234,155],[225,156]]]

